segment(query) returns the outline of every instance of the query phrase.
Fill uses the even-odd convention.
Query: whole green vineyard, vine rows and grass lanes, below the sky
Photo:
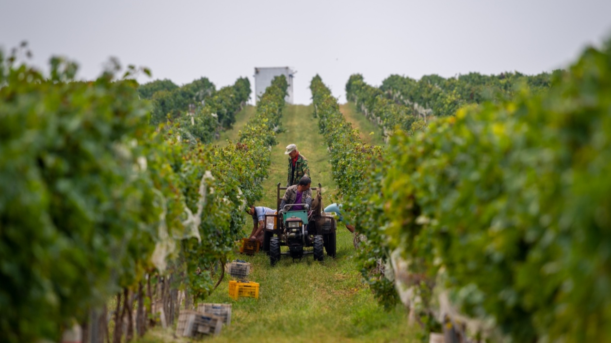
[[[92,81],[0,51],[0,341],[162,342],[231,303],[214,341],[611,341],[611,42],[566,70],[469,73],[312,104],[275,78]],[[284,146],[341,203],[336,258],[238,255],[246,206],[276,209]],[[284,184],[283,184],[284,186]],[[224,265],[252,264],[232,300]]]

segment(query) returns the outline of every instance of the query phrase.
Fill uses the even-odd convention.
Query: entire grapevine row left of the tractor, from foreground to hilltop
[[[146,285],[149,296],[151,284],[167,292],[172,280],[172,288],[186,283],[192,300],[207,296],[214,287],[208,266],[231,253],[241,209],[262,195],[273,131],[225,148],[185,144],[175,123],[149,124],[151,107],[136,82],[115,72],[79,82],[75,63],[53,58],[46,75],[0,51],[6,341],[57,341],[74,319],[105,318],[99,315],[111,294],[115,323],[128,316],[128,339],[134,321],[125,308],[139,300],[135,325],[144,334],[155,300],[144,309]],[[262,103],[281,109],[285,90],[285,82],[274,82],[269,93],[277,96]],[[279,116],[260,120],[279,124]]]

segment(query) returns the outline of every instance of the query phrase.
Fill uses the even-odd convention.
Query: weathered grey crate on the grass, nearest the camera
[[[222,326],[222,317],[200,311],[183,310],[178,316],[176,336],[190,338],[216,336],[221,333]]]

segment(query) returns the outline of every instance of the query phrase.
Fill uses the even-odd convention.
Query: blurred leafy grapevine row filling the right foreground
[[[424,323],[492,341],[609,340],[610,46],[546,92],[393,134],[359,201],[384,217],[379,249]]]

